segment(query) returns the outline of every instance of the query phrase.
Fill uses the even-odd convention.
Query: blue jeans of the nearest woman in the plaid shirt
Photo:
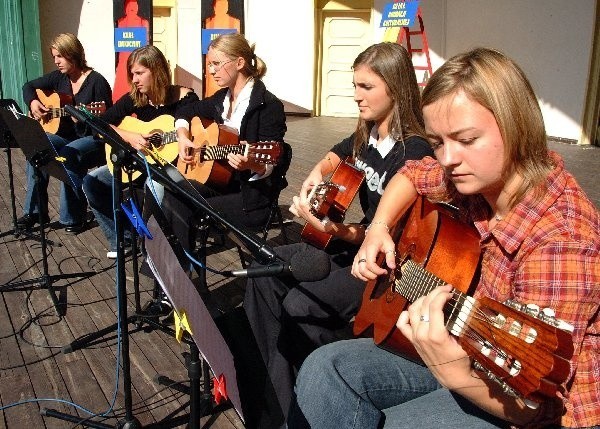
[[[377,347],[370,338],[313,352],[296,380],[288,428],[504,428],[427,367]]]

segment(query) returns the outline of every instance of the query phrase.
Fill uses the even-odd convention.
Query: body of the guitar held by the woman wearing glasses
[[[204,160],[200,154],[207,146],[237,145],[239,136],[235,130],[216,122],[202,120],[198,117],[192,119],[190,124],[192,141],[200,146],[195,151],[194,162],[186,164],[181,159],[177,162],[177,169],[188,180],[215,188],[227,186],[233,174],[233,168],[227,160]]]

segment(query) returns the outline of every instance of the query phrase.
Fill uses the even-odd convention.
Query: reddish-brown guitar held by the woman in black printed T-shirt
[[[315,186],[308,195],[311,213],[320,220],[343,222],[364,179],[365,173],[356,168],[350,158],[340,161],[329,180]],[[331,237],[308,222],[300,234],[302,241],[318,249],[325,249]]]

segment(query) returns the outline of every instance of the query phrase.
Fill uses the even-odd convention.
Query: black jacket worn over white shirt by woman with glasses
[[[190,122],[193,117],[198,116],[221,124],[223,123],[223,101],[226,95],[227,88],[223,88],[210,97],[182,106],[177,110],[175,118],[182,118]],[[241,191],[245,210],[256,210],[268,206],[272,199],[279,194],[279,191],[287,185],[285,173],[291,160],[291,147],[283,141],[286,131],[283,103],[267,91],[262,81],[256,80],[250,93],[248,109],[242,119],[240,140],[246,140],[249,143],[281,142],[284,156],[275,166],[271,175],[261,180],[248,181],[252,177],[250,171],[235,172],[227,191],[228,193]]]

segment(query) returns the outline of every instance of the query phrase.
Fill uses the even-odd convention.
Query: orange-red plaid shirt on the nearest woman
[[[549,307],[574,326],[561,425],[590,427],[600,425],[600,216],[560,156],[550,155],[555,167],[543,197],[526,194],[491,230],[485,200],[458,194],[434,159],[408,161],[400,172],[419,194],[455,197],[464,220],[479,231],[482,266],[475,297]]]

